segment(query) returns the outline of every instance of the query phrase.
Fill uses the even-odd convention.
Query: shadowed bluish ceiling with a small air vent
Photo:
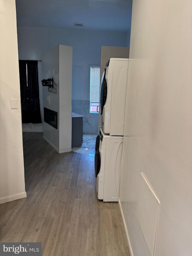
[[[17,26],[124,31],[132,0],[16,0]],[[83,23],[75,27],[74,23]]]

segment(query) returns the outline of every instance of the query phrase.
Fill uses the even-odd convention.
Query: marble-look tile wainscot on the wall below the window
[[[90,101],[72,100],[72,112],[83,116],[83,134],[98,134],[98,113],[89,113]]]

